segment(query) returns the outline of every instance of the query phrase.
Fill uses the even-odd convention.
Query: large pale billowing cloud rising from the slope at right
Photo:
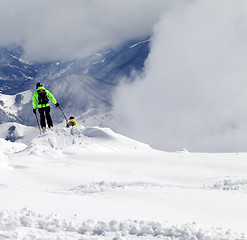
[[[247,150],[247,3],[174,5],[145,72],[113,97],[118,131],[167,151]]]

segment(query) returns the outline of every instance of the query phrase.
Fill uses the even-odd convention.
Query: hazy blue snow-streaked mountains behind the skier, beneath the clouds
[[[107,112],[111,107],[112,90],[132,72],[143,70],[150,52],[149,41],[149,38],[131,40],[84,59],[42,64],[23,59],[23,51],[18,46],[1,48],[0,123],[36,124],[31,96],[38,81],[54,94],[68,115]],[[58,110],[52,115],[55,122],[63,119]]]

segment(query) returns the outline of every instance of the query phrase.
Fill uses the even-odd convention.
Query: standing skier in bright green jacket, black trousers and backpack
[[[40,125],[42,128],[42,131],[44,132],[46,130],[46,122],[45,118],[48,124],[48,127],[50,129],[53,128],[53,122],[50,115],[50,103],[49,99],[56,105],[56,107],[59,106],[59,103],[56,101],[54,96],[46,90],[41,83],[36,84],[36,92],[33,94],[33,113],[36,114],[37,110],[37,104],[38,104],[38,110],[40,114]]]

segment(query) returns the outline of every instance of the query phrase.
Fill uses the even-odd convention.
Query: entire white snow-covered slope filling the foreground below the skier
[[[162,152],[99,127],[32,138],[0,142],[0,239],[247,239],[247,153]]]

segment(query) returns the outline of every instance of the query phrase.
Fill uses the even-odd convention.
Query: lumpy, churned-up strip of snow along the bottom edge
[[[79,221],[62,219],[58,215],[48,216],[30,211],[26,208],[19,212],[0,211],[1,239],[207,239],[235,240],[245,239],[231,230],[203,230],[195,223],[169,226],[153,221],[126,220],[110,222]]]

